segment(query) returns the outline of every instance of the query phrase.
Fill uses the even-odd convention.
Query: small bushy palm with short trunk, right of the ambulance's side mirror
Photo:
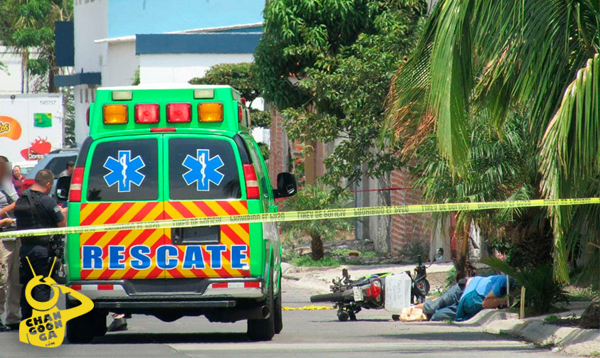
[[[348,207],[350,203],[348,195],[332,195],[330,189],[306,185],[295,196],[285,200],[283,207],[285,211],[325,210],[341,209]],[[340,230],[349,230],[351,224],[347,219],[325,219],[283,222],[281,227],[297,239],[304,235],[310,236],[312,259],[319,261],[325,254],[323,240],[334,237]]]

